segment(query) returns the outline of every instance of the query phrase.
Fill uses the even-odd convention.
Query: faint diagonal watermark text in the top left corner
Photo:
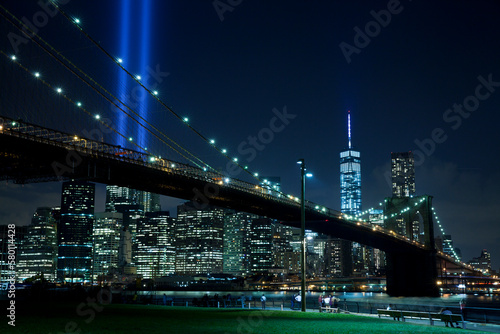
[[[23,28],[21,29],[22,35],[16,34],[14,32],[9,32],[7,34],[7,38],[9,39],[10,45],[14,49],[14,53],[19,52],[19,46],[23,44],[27,44],[35,35],[45,27],[51,18],[57,15],[58,10],[57,7],[54,6],[54,2],[57,3],[58,6],[66,5],[70,2],[70,0],[39,0],[37,2],[40,10],[33,14],[31,19],[23,16],[21,21],[24,23]]]

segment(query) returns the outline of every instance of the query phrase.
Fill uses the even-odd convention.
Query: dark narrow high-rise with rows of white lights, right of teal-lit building
[[[258,218],[250,227],[250,271],[267,273],[273,267],[273,220]]]

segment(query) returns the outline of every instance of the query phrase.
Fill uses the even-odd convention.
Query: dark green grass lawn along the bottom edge
[[[0,333],[479,333],[347,314],[142,305],[24,305],[15,328],[2,318]]]

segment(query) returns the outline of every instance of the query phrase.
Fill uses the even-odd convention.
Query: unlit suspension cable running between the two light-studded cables
[[[170,144],[166,143],[163,139],[161,139],[157,134],[155,134],[153,131],[151,131],[150,129],[148,129],[146,126],[144,126],[143,124],[141,124],[138,120],[136,120],[134,117],[132,117],[132,115],[128,112],[126,112],[125,110],[123,110],[119,105],[117,105],[113,100],[111,100],[108,96],[105,96],[105,94],[103,94],[101,91],[99,91],[95,86],[97,86],[98,88],[100,88],[102,91],[104,91],[106,94],[108,94],[109,96],[111,96],[111,98],[115,99],[116,101],[119,101],[120,104],[122,104],[126,109],[130,110],[131,113],[133,113],[135,116],[139,117],[142,121],[144,121],[146,124],[148,124],[149,126],[151,126],[154,130],[156,130],[158,133],[160,133],[162,136],[164,136],[165,138],[167,138],[169,141],[171,141],[172,143],[174,143],[174,145],[176,145],[178,148],[180,148],[181,150],[183,150],[184,152],[186,152],[188,155],[190,155],[191,157],[193,157],[195,160],[198,160],[201,165],[203,165],[204,167],[208,167],[212,170],[214,170],[213,167],[211,167],[209,164],[205,163],[204,161],[202,161],[201,159],[199,159],[198,157],[196,157],[194,154],[192,154],[191,152],[189,152],[188,150],[186,150],[184,147],[182,147],[180,144],[178,144],[177,142],[175,142],[173,139],[169,138],[167,135],[165,135],[163,132],[161,132],[159,129],[157,129],[155,126],[153,126],[152,124],[150,124],[149,122],[147,122],[143,117],[141,117],[138,113],[136,113],[132,108],[130,108],[127,104],[125,104],[123,101],[121,101],[120,99],[118,99],[116,96],[114,96],[111,92],[109,92],[108,90],[106,90],[103,86],[101,86],[99,83],[97,83],[94,79],[92,79],[88,74],[86,74],[82,69],[80,69],[78,66],[76,66],[75,64],[73,64],[69,59],[67,59],[66,57],[64,57],[64,55],[62,55],[59,51],[57,51],[54,47],[52,47],[48,42],[46,42],[43,38],[41,38],[38,34],[36,34],[34,31],[32,31],[29,27],[27,27],[23,22],[21,22],[17,17],[15,17],[13,14],[11,14],[7,9],[5,9],[2,5],[0,5],[0,8],[2,8],[6,13],[8,13],[12,19],[10,19],[9,17],[7,17],[4,13],[1,13],[1,15],[7,20],[9,21],[16,29],[18,30],[22,30],[22,28],[20,28],[19,26],[17,26],[13,20],[17,21],[20,25],[23,26],[24,29],[27,29],[30,33],[32,33],[33,36],[36,36],[43,44],[45,44],[47,47],[44,47],[40,42],[38,42],[35,38],[33,38],[33,41],[42,49],[44,50],[47,54],[49,54],[52,58],[54,58],[56,61],[58,61],[61,65],[63,65],[68,71],[70,71],[72,74],[74,74],[78,79],[80,79],[82,82],[84,82],[85,84],[87,84],[90,88],[92,88],[94,91],[96,91],[99,95],[101,95],[104,99],[106,99],[109,103],[111,103],[112,105],[114,105],[116,108],[118,108],[119,110],[121,110],[121,112],[123,112],[127,117],[131,118],[133,121],[135,121],[139,126],[143,127],[146,131],[148,131],[151,135],[153,135],[155,138],[157,138],[158,140],[160,140],[162,143],[164,143],[165,145],[167,145],[169,148],[171,148],[173,151],[175,151],[176,153],[178,153],[179,155],[181,155],[182,157],[184,157],[186,160],[190,161],[191,163],[193,163],[195,166],[197,167],[200,167],[202,168],[202,166],[200,166],[198,163],[196,163],[195,161],[193,161],[192,159],[186,157],[184,154],[182,154],[181,152],[179,152],[177,149],[175,149],[174,147],[172,147]],[[76,70],[78,70],[80,73],[82,73],[82,75],[86,78],[89,79],[90,82],[92,82],[94,85],[92,85],[90,82],[88,82],[87,80],[85,80],[81,75],[79,75],[78,73],[75,72],[75,70],[73,70],[72,68],[70,68],[70,66],[68,66],[67,64],[65,64],[61,59],[59,59],[54,53],[52,53],[50,50],[52,50],[52,52],[54,52],[55,54],[57,54],[57,56],[61,57],[64,61],[68,62],[72,67],[74,67]],[[143,149],[141,147],[141,149]]]

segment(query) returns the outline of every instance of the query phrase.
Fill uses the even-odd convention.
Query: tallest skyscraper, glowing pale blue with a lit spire
[[[348,215],[356,215],[361,212],[361,154],[352,148],[350,111],[347,115],[347,136],[348,147],[340,152],[340,210]],[[351,275],[350,267],[355,273],[362,272],[364,268],[363,246],[345,240],[330,241],[330,243],[335,242],[337,245],[330,245],[329,254],[340,252],[336,258],[342,261],[347,261],[350,258],[349,264],[335,265],[336,268],[344,271],[342,276]]]

